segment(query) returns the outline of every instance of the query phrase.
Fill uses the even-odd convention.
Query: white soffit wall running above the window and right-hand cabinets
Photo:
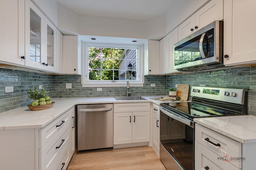
[[[44,8],[51,0],[35,1]],[[58,28],[64,34],[160,40],[209,1],[176,0],[166,14],[148,21],[80,16],[58,4]]]

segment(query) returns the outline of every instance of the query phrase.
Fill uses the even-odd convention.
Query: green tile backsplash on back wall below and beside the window
[[[66,89],[66,83],[72,83],[72,89]],[[150,87],[156,84],[156,87]],[[143,87],[131,87],[132,96],[166,95],[166,76],[145,76]],[[97,92],[97,87],[82,87],[81,76],[54,75],[52,82],[52,96],[54,98],[81,98],[81,97],[106,97],[125,96],[126,87],[102,87]]]

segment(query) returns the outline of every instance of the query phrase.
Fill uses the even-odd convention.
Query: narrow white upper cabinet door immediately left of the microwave
[[[167,35],[166,73],[178,72],[174,69],[174,44],[178,42],[178,27]]]

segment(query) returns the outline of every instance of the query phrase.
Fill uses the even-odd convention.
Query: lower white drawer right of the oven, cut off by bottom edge
[[[239,170],[230,162],[220,160],[220,156],[195,142],[195,169],[205,170],[207,166],[209,170]]]

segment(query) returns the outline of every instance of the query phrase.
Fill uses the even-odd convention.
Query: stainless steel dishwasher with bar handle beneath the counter
[[[78,105],[77,111],[78,151],[113,149],[113,104]]]

